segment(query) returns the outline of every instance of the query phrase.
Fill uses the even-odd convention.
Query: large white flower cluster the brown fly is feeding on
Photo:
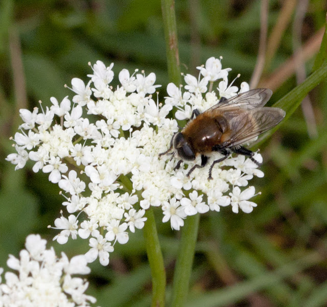
[[[100,263],[107,265],[114,244],[128,241],[128,229],[143,228],[145,210],[150,206],[160,206],[162,221],[170,221],[176,230],[186,216],[219,211],[220,206],[251,212],[256,206],[249,201],[254,187],[241,192],[240,186],[263,173],[250,159],[242,155],[228,158],[219,164],[228,168],[217,165],[214,179],[207,180],[208,167],[196,169],[188,178],[192,165],[182,163],[175,171],[176,159],[166,163],[166,156],[159,158],[178,131],[177,121],[166,118],[173,107],[178,109],[178,120],[188,119],[194,109],[202,112],[219,102],[217,96],[235,96],[247,91],[248,84],[243,82],[240,91],[227,86],[230,68],[222,69],[221,59],[209,58],[205,67],[198,67],[198,79],[184,77],[183,92],[168,85],[169,97],[162,106],[152,98],[159,86],[154,73],[146,76],[135,70],[130,76],[123,69],[121,85],[113,88],[112,67],[97,61],[86,85],[74,78],[73,105],[67,97],[60,104],[51,98],[52,106],[45,110],[20,110],[24,123],[14,137],[17,153],[7,160],[16,164],[15,169],[24,167],[29,159],[35,161],[33,171],[49,173],[49,180],[62,189],[63,205],[70,215],[55,220],[55,228],[61,232],[54,240],[64,244],[69,236],[90,238],[87,261],[99,257]],[[219,95],[212,90],[217,80]],[[262,161],[259,154],[254,158]]]

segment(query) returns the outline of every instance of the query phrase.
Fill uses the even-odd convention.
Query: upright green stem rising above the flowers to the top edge
[[[164,21],[168,76],[170,82],[181,84],[177,30],[175,17],[175,1],[161,0],[162,20]]]

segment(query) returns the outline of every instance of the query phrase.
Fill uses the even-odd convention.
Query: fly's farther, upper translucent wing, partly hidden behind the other
[[[214,109],[229,110],[236,107],[244,110],[259,108],[263,107],[267,103],[271,95],[272,91],[269,88],[251,89],[237,96],[231,97],[221,103],[218,103],[207,111],[212,111]]]

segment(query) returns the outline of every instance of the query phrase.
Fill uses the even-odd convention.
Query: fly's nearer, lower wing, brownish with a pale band
[[[273,128],[284,117],[285,111],[279,108],[265,107],[243,111],[229,122],[231,134],[224,145],[226,147],[241,145]]]

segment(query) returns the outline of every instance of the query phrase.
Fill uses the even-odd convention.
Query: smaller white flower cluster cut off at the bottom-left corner
[[[86,307],[89,302],[95,303],[94,297],[84,293],[88,282],[72,276],[90,272],[85,256],[78,255],[69,261],[62,253],[58,258],[54,249],[45,249],[45,245],[46,240],[40,235],[30,234],[19,259],[9,255],[7,265],[17,274],[6,272],[6,283],[0,278],[0,306]]]

